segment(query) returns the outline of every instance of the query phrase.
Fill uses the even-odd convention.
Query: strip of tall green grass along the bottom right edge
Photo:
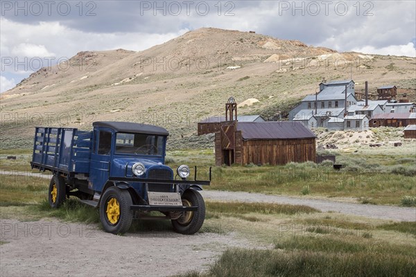
[[[229,249],[207,274],[182,276],[413,276],[416,261],[391,253]]]

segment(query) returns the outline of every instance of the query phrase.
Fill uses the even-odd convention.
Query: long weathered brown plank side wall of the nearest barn
[[[315,161],[315,139],[242,141],[242,164],[286,164]]]

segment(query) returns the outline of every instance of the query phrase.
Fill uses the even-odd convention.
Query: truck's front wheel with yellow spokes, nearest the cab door
[[[128,190],[112,186],[105,190],[100,202],[100,220],[107,233],[125,233],[133,219],[132,197]]]

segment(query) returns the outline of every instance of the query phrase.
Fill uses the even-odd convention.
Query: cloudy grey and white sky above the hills
[[[1,92],[79,51],[140,51],[189,30],[254,30],[337,51],[416,55],[415,1],[0,1]]]

